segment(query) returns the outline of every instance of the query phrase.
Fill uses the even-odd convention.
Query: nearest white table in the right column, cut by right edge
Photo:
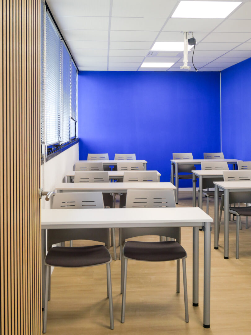
[[[229,192],[251,192],[251,182],[214,182],[215,184],[215,249],[219,248],[219,188],[224,190],[224,258],[228,259],[229,248]]]

